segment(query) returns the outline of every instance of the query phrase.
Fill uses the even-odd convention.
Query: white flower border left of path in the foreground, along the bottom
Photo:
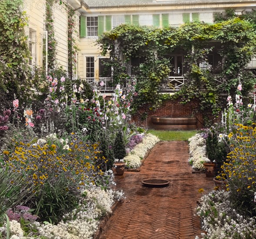
[[[111,184],[115,185],[112,170],[105,172],[109,176]],[[122,191],[113,189],[101,189],[90,185],[81,192],[82,199],[77,209],[67,213],[57,225],[51,223],[34,222],[33,227],[37,229],[40,236],[47,239],[92,239],[98,229],[100,219],[107,213],[111,213],[111,207],[116,200],[123,197]],[[0,227],[0,232],[6,232],[7,225]],[[25,239],[20,223],[10,222],[10,239]],[[29,236],[34,236],[33,233]]]

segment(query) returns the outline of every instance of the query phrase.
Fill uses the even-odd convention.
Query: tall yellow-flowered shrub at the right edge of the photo
[[[227,179],[232,202],[243,211],[256,215],[256,125],[236,124],[236,133],[230,134],[230,153],[222,166],[219,179]]]

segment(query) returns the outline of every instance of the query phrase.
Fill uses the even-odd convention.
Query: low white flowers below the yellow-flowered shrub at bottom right
[[[246,218],[231,208],[229,192],[212,191],[201,198],[197,215],[202,219],[202,229],[207,232],[195,239],[256,238],[256,217]]]

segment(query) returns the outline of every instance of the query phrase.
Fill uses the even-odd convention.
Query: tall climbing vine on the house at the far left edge
[[[21,93],[26,97],[28,59],[30,57],[24,27],[27,18],[21,9],[23,0],[0,3],[0,96],[1,103]],[[10,100],[10,99],[9,99]]]

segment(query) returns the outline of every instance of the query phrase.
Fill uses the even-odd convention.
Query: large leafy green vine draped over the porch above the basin
[[[153,110],[162,100],[170,98],[179,98],[182,103],[196,99],[200,104],[198,110],[218,114],[226,105],[223,94],[234,94],[238,83],[242,83],[243,95],[246,95],[256,83],[254,74],[246,69],[256,53],[255,39],[253,21],[235,16],[212,24],[185,23],[179,28],[124,24],[104,33],[98,43],[103,55],[109,53],[115,61],[123,56],[126,68],[132,57],[143,58],[144,62],[139,64],[136,72],[138,96],[135,109],[145,105],[145,111]],[[216,50],[217,43],[222,59],[216,66],[218,70],[200,68],[199,64],[207,62],[207,55]],[[162,95],[159,89],[170,71],[170,54],[177,49],[185,53],[185,77],[188,80],[174,95]]]

